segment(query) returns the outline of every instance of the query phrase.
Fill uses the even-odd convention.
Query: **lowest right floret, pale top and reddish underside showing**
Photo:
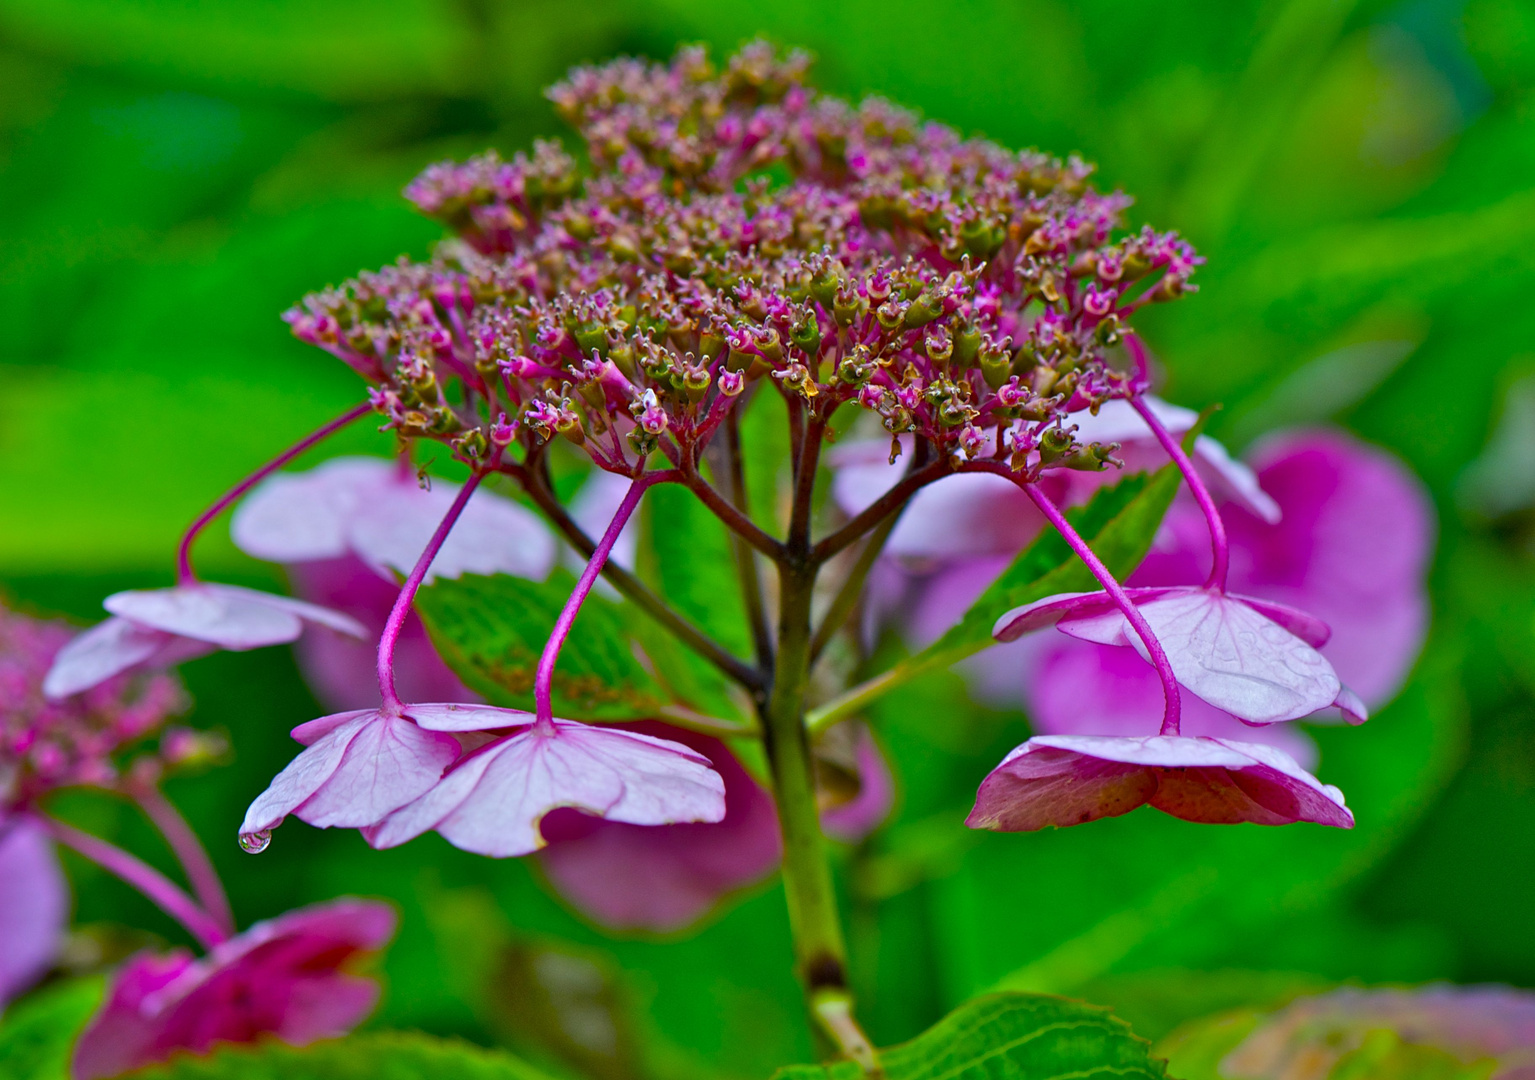
[[[1141,805],[1219,825],[1354,825],[1343,793],[1283,752],[1176,735],[1038,735],[981,781],[966,824],[1033,831],[1113,818]]]

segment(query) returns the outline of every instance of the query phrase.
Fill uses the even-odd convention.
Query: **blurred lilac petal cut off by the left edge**
[[[26,818],[0,818],[0,1011],[52,966],[68,924],[54,845]]]

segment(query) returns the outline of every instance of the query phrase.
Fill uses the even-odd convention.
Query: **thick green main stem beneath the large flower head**
[[[810,670],[810,592],[815,571],[789,561],[778,566],[778,649],[772,693],[763,712],[763,738],[783,830],[783,884],[789,930],[810,1012],[838,1051],[872,1072],[873,1046],[852,1016],[847,947],[837,914],[837,893],[815,804],[810,738],[804,727],[804,692]]]

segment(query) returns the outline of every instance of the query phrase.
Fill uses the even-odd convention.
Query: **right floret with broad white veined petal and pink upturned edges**
[[[1273,724],[1339,706],[1363,721],[1363,703],[1339,683],[1314,646],[1328,631],[1305,612],[1217,589],[1130,589],[1136,611],[1162,643],[1173,675],[1190,693],[1248,724]],[[1102,592],[1045,597],[1015,608],[993,627],[999,641],[1055,623],[1082,641],[1150,654],[1124,612]]]

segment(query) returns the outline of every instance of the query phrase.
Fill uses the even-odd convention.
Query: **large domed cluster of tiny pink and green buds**
[[[307,298],[293,331],[470,462],[554,437],[612,471],[683,460],[764,380],[955,462],[1113,463],[1070,416],[1144,387],[1130,321],[1202,259],[1127,232],[1130,199],[1074,158],[817,95],[807,66],[757,43],[576,71],[551,97],[594,173],[550,143],[433,166],[407,195],[459,239]]]

